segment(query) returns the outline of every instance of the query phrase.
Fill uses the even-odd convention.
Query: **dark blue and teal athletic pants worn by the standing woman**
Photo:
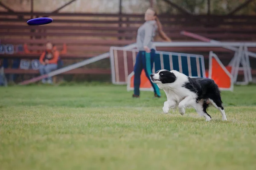
[[[155,50],[151,49],[150,54],[145,51],[139,51],[136,57],[136,63],[134,65],[134,94],[140,96],[140,74],[142,69],[144,69],[148,80],[151,82],[150,74],[152,74],[153,63],[154,63]],[[160,96],[160,91],[158,86],[151,82],[154,88],[154,93]]]

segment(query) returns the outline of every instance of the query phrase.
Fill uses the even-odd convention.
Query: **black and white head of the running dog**
[[[150,78],[156,84],[172,83],[177,79],[175,74],[168,70],[158,70],[155,74],[150,74]]]

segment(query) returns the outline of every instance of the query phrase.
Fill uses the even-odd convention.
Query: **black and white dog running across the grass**
[[[164,113],[178,106],[180,114],[183,115],[185,108],[192,107],[200,116],[204,116],[206,121],[210,121],[212,118],[206,110],[209,105],[213,105],[221,111],[222,120],[227,120],[218,85],[212,79],[190,78],[175,70],[159,70],[151,74],[150,78],[166,93]]]

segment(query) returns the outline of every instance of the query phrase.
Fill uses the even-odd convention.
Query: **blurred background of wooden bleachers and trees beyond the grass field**
[[[136,42],[148,7],[157,9],[172,42],[202,42],[180,34],[189,31],[221,42],[256,41],[256,0],[0,0],[0,65],[8,84],[39,76],[38,59],[51,42],[60,51],[60,68]],[[28,26],[36,17],[51,17],[44,26]],[[159,41],[161,41],[159,39]],[[234,51],[221,47],[161,47],[161,51],[204,55],[213,50],[227,65]],[[256,48],[249,48],[256,52]],[[250,58],[253,76],[256,59]],[[239,71],[239,79],[243,73]],[[109,58],[53,77],[59,82],[111,82]],[[254,81],[254,78],[253,78]]]

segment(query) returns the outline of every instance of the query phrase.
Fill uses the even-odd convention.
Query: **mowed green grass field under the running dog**
[[[255,170],[256,86],[222,92],[227,122],[125,86],[0,88],[0,170]]]

